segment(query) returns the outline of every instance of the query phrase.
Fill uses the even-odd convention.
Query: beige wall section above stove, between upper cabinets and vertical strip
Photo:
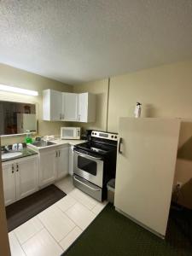
[[[90,124],[77,123],[84,129],[106,131],[108,113],[108,79],[73,86],[74,92],[92,92],[96,94],[96,122]]]

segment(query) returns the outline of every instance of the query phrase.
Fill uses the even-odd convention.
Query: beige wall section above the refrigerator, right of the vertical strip
[[[192,61],[111,78],[108,131],[118,131],[120,116],[133,116],[136,102],[143,117],[192,119]]]

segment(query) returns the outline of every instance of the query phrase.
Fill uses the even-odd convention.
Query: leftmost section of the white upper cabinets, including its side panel
[[[59,121],[62,119],[62,93],[57,90],[44,90],[43,92],[43,119],[46,121]]]

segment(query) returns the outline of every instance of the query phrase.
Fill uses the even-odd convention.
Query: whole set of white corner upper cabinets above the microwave
[[[96,96],[44,90],[43,119],[47,121],[95,122]]]

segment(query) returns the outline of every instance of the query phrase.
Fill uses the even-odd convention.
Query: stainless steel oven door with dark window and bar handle
[[[74,174],[94,183],[102,188],[103,179],[103,160],[102,157],[96,157],[83,154],[74,150],[73,154]]]

